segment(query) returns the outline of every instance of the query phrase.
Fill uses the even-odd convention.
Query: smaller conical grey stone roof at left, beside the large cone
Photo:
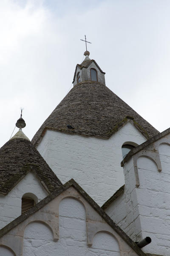
[[[16,135],[0,148],[0,193],[8,194],[30,171],[50,193],[61,186],[60,180],[23,132]]]

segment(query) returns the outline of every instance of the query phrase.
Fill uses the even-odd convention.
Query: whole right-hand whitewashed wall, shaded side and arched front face
[[[162,143],[166,140],[170,143],[170,135],[154,143],[153,149],[148,146],[137,153],[139,187],[133,159],[125,164],[125,192],[106,209],[133,241],[151,237],[144,252],[164,256],[170,254],[170,145]],[[142,154],[150,154],[150,159]]]

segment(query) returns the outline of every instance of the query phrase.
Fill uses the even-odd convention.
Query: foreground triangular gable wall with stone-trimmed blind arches
[[[0,238],[15,256],[137,256],[74,187],[16,222]]]

